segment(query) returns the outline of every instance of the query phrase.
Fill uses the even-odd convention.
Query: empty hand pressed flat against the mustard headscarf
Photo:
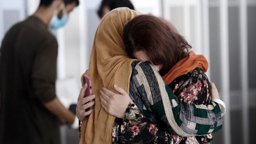
[[[114,89],[120,94],[114,93],[106,88],[100,90],[101,105],[110,115],[123,119],[131,98],[121,87],[114,85]]]

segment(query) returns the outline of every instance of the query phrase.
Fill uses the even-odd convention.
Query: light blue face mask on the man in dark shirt
[[[50,27],[53,28],[53,29],[58,29],[58,28],[61,28],[62,26],[64,26],[67,21],[68,21],[68,15],[66,13],[66,8],[65,8],[65,5],[64,3],[62,4],[62,12],[63,12],[63,16],[61,18],[58,17],[58,10],[57,10],[57,6],[56,8],[54,9],[54,15],[51,19],[51,22],[50,22]]]

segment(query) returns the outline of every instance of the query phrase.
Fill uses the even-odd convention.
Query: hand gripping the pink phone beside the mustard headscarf
[[[88,97],[85,97],[85,91],[87,89],[88,85],[85,84],[83,88],[80,90],[79,97],[77,99],[77,106],[76,106],[76,115],[78,120],[81,122],[84,121],[85,117],[87,115],[90,115],[94,109],[91,109],[89,111],[85,111],[87,108],[93,106],[95,104],[95,101],[93,100],[95,98],[95,95],[89,95]],[[90,102],[90,100],[93,100]],[[89,102],[89,103],[87,103]]]

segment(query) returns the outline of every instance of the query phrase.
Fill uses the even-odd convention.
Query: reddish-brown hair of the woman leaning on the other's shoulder
[[[138,15],[129,20],[123,29],[123,40],[128,55],[145,51],[154,65],[163,65],[163,76],[184,57],[191,46],[182,35],[170,29],[162,20],[152,15]]]

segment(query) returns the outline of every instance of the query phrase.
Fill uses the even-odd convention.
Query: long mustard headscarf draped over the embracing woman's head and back
[[[101,106],[99,91],[106,87],[115,92],[113,85],[124,88],[129,93],[132,73],[131,63],[122,40],[123,26],[140,14],[129,8],[116,8],[101,20],[94,36],[89,69],[85,72],[92,79],[92,92],[96,95],[95,109],[82,124],[80,144],[110,144],[115,117]],[[81,78],[83,85],[83,81]]]

